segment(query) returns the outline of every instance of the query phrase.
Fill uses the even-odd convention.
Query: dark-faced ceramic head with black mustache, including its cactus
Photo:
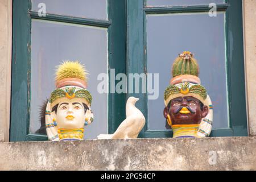
[[[207,137],[212,128],[212,103],[198,75],[199,67],[191,52],[181,53],[172,65],[173,78],[164,91],[163,114],[175,138]],[[206,121],[207,128],[200,128]]]

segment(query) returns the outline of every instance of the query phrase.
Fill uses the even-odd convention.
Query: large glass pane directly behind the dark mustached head
[[[224,19],[224,13],[147,16],[147,70],[159,73],[159,98],[148,101],[150,129],[166,129],[163,93],[172,78],[172,63],[183,51],[195,53],[199,63],[201,84],[213,103],[213,128],[228,127]]]

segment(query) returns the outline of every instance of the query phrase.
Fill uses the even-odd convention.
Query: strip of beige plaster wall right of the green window
[[[256,136],[256,1],[243,1],[245,66],[249,131]]]

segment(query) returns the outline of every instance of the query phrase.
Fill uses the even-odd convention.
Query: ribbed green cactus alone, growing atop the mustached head
[[[172,76],[175,77],[179,75],[199,75],[199,66],[197,61],[189,51],[184,51],[179,54],[179,57],[176,58],[172,65]]]

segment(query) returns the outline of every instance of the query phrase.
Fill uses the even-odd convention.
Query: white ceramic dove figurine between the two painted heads
[[[137,138],[139,132],[145,125],[145,118],[142,112],[135,107],[138,98],[129,97],[126,102],[126,119],[119,125],[113,134],[98,135],[98,139],[125,139]]]

